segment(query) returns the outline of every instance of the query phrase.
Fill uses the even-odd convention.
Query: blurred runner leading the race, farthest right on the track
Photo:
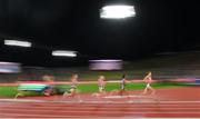
[[[146,95],[148,90],[151,91],[151,95],[154,95],[154,89],[151,87],[152,83],[152,73],[148,72],[148,75],[144,77],[143,81],[147,83],[146,89],[143,90],[142,95]]]

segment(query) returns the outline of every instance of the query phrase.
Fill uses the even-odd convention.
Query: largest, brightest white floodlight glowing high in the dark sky
[[[133,6],[106,6],[100,10],[100,18],[102,19],[124,19],[134,16],[136,11]]]

